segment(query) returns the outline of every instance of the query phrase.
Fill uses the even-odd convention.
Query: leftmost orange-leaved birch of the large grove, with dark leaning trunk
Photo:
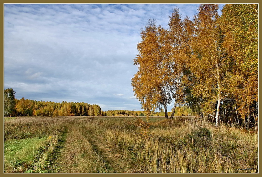
[[[137,44],[139,54],[134,59],[138,67],[137,73],[131,79],[134,95],[149,115],[160,104],[165,107],[167,115],[167,104],[171,102],[171,94],[167,92],[163,82],[163,57],[160,45],[160,33],[164,30],[157,27],[155,20],[149,19],[145,29],[141,29],[142,41]]]

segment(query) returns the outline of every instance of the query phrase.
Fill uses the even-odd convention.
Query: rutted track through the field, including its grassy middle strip
[[[54,164],[60,173],[138,172],[125,154],[106,146],[98,135],[92,134],[85,126],[71,124],[67,126],[66,130],[64,142],[61,142]],[[94,162],[97,165],[100,162],[100,167],[88,167],[89,163],[95,164]]]

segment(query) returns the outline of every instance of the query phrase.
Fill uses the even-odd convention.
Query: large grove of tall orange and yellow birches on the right
[[[133,91],[146,115],[173,118],[188,105],[199,115],[246,125],[258,112],[258,4],[201,4],[193,20],[179,9],[168,28],[149,19],[141,29]],[[167,106],[174,103],[172,114]]]

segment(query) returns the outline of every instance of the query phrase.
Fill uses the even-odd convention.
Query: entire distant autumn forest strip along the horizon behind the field
[[[5,89],[5,117],[9,116],[146,116],[144,111],[108,110],[103,111],[97,104],[16,99],[15,92]],[[171,114],[171,112],[169,112]],[[195,115],[190,108],[182,106],[177,109],[177,116]],[[150,116],[165,116],[163,109],[152,112]]]

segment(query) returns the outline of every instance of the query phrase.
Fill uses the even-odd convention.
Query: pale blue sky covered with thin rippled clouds
[[[149,18],[167,28],[175,7],[192,20],[198,6],[4,4],[4,89],[17,99],[142,110],[131,86],[140,29]]]

